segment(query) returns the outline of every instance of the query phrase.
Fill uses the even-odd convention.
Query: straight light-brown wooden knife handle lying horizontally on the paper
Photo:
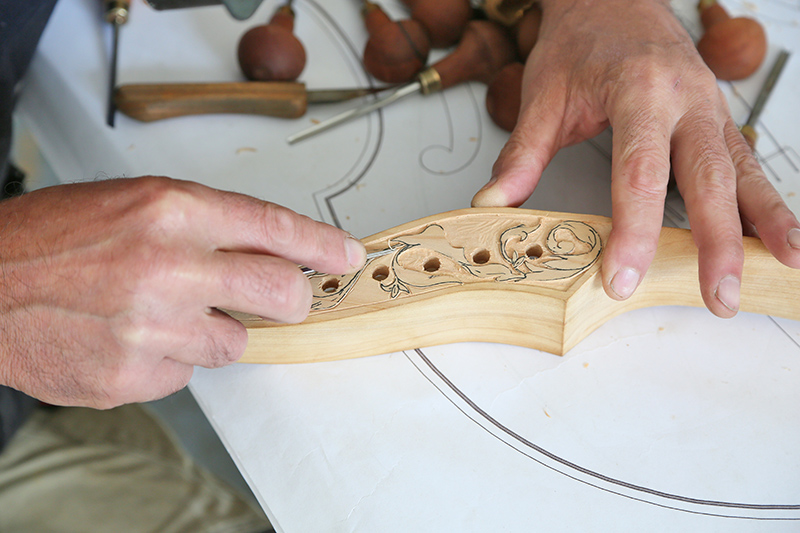
[[[308,105],[305,85],[297,82],[123,85],[114,102],[126,115],[144,122],[212,113],[297,118]]]

